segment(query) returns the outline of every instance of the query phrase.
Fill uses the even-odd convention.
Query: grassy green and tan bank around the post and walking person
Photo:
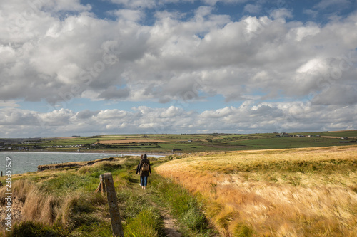
[[[140,188],[139,177],[134,174],[138,162],[138,157],[127,157],[91,166],[14,175],[12,196],[19,204],[13,208],[22,211],[21,221],[13,221],[11,233],[5,233],[1,226],[0,236],[112,236],[106,196],[94,193],[99,175],[106,172],[114,177],[125,236],[164,237],[163,206],[178,219],[183,236],[210,236],[212,231],[198,202],[188,191],[155,172],[149,178],[149,189]],[[151,162],[155,165],[166,160],[153,158]],[[168,189],[181,192],[180,204],[167,199]],[[2,187],[0,208],[5,193]],[[185,214],[187,210],[191,215]]]

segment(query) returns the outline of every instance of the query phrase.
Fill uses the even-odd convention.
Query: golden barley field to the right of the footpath
[[[221,236],[357,236],[357,146],[201,154],[156,167]]]

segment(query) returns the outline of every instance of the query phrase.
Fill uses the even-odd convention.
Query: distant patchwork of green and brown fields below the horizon
[[[290,135],[306,137],[276,137],[277,133],[260,134],[145,134],[100,135],[42,139],[42,142],[16,144],[14,147],[73,152],[78,149],[106,152],[191,153],[234,151],[246,149],[283,149],[298,147],[329,147],[356,144],[357,130],[336,132],[301,132]],[[348,140],[341,140],[348,137]]]

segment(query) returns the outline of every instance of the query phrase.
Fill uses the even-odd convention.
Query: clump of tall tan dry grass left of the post
[[[12,182],[12,196],[22,203],[21,206],[16,207],[17,209],[21,208],[21,222],[29,221],[47,226],[59,225],[71,229],[81,223],[91,223],[98,218],[103,218],[95,212],[96,206],[101,206],[106,202],[103,196],[87,194],[82,189],[68,191],[71,190],[71,186],[66,186],[64,194],[59,196],[56,190],[49,191],[51,187],[44,185],[44,182],[51,181],[57,176],[66,175],[66,172],[60,171],[52,174],[52,177],[46,177],[41,182],[29,179]],[[70,185],[76,185],[76,182]],[[0,189],[0,201],[5,198],[5,193],[5,186],[3,186]],[[4,208],[4,206],[0,206],[0,208]]]

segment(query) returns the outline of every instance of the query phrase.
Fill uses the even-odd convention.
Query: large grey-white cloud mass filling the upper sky
[[[57,5],[52,8],[71,6],[66,1]],[[188,94],[200,100],[203,93],[221,94],[229,101],[261,89],[269,96],[277,91],[308,95],[306,87],[316,84],[317,69],[301,70],[316,58],[338,60],[357,42],[356,15],[318,26],[286,23],[281,19],[291,18],[291,11],[275,9],[270,16],[231,21],[201,6],[188,21],[167,13],[153,26],[141,26],[137,10],[117,11],[117,21],[97,19],[85,10],[78,8],[81,13],[60,20],[37,9],[19,26],[22,37],[2,28],[0,75],[6,79],[1,81],[1,100],[169,102],[186,100]],[[1,21],[4,26],[10,23]],[[6,38],[11,33],[15,35]],[[355,57],[356,51],[352,53]],[[322,73],[333,65],[318,67]],[[351,81],[346,75],[341,80]],[[195,88],[198,80],[201,85]],[[116,89],[122,85],[126,88]],[[291,85],[297,87],[291,90]]]

